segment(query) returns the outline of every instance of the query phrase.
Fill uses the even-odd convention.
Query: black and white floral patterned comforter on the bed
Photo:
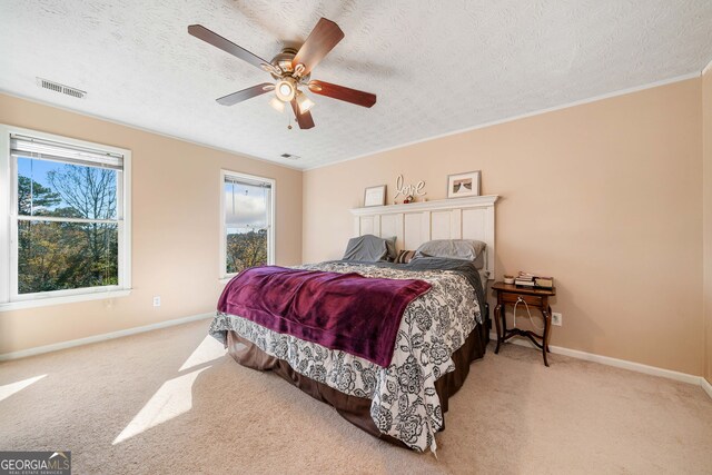
[[[236,315],[217,313],[210,335],[225,344],[226,331],[235,330],[265,353],[289,363],[297,373],[342,393],[372,399],[370,415],[380,432],[416,451],[429,447],[435,452],[435,433],[443,426],[435,380],[455,369],[451,355],[465,343],[475,325],[482,324],[474,287],[462,274],[448,270],[400,270],[344,261],[299,268],[423,279],[433,287],[406,308],[393,360],[385,368]]]

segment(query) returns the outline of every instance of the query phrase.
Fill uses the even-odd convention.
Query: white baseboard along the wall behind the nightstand
[[[496,344],[497,334],[494,331],[491,331],[490,338],[494,340]],[[508,340],[507,343],[513,343],[515,345],[526,346],[530,348],[536,348],[532,344],[532,342],[530,342],[527,338],[515,338],[515,339]],[[555,353],[557,355],[571,356],[572,358],[584,359],[586,362],[600,363],[606,366],[614,366],[616,368],[630,369],[636,373],[644,373],[646,375],[652,375],[652,376],[661,376],[668,379],[674,379],[682,383],[702,386],[702,388],[712,398],[712,385],[710,385],[710,383],[702,376],[694,376],[686,373],[673,372],[672,369],[659,368],[655,366],[643,365],[642,363],[634,363],[625,359],[612,358],[610,356],[596,355],[594,353],[586,353],[577,349],[564,348],[561,346],[550,345],[548,349],[551,349],[552,353]]]

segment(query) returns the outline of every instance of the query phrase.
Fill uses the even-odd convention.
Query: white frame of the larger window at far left
[[[68,146],[92,148],[123,156],[117,199],[119,284],[63,290],[18,294],[17,164],[10,154],[10,136],[17,133]],[[67,219],[61,219],[66,221]],[[71,219],[69,219],[71,220]],[[38,130],[0,123],[0,311],[75,301],[126,297],[131,290],[131,151]]]

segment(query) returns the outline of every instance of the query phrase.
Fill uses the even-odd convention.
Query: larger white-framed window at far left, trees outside
[[[0,131],[0,308],[128,294],[130,154]]]

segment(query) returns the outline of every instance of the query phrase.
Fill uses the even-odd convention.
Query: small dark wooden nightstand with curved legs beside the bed
[[[556,295],[556,288],[545,289],[538,287],[517,287],[513,284],[496,283],[492,288],[497,293],[497,306],[494,308],[494,323],[497,327],[497,347],[495,355],[500,353],[500,345],[505,343],[513,336],[525,336],[532,340],[537,348],[542,349],[544,355],[544,365],[548,366],[546,353],[548,352],[548,337],[552,333],[552,307],[548,306],[548,297]],[[534,331],[513,328],[507,330],[507,320],[504,307],[508,304],[514,306],[516,303],[524,303],[530,308],[538,308],[544,316],[544,335],[537,335]],[[541,340],[542,343],[537,342]]]

